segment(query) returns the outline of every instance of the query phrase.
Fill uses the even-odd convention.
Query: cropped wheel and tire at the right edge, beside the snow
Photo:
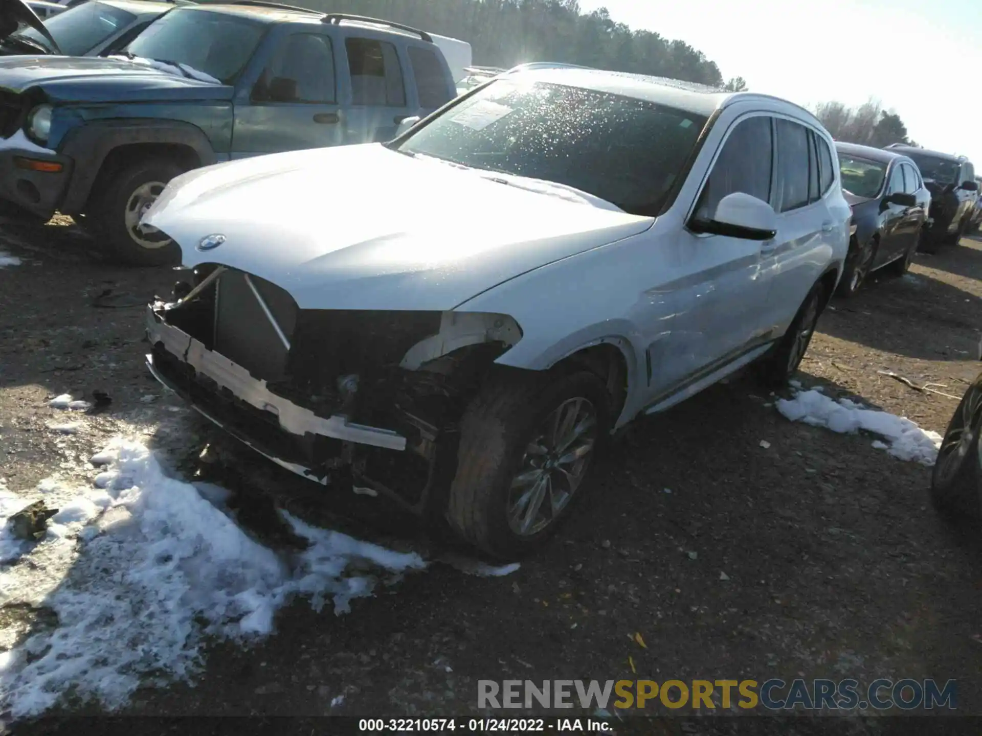
[[[982,376],[961,397],[931,473],[931,502],[943,515],[982,520]]]

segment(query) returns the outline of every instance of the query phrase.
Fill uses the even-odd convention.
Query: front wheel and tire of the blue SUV
[[[131,266],[177,265],[181,249],[159,231],[140,233],[136,218],[157,198],[164,186],[183,174],[182,166],[162,159],[147,159],[117,170],[101,195],[89,207],[85,220],[93,221],[111,257]],[[87,225],[87,223],[86,223]]]

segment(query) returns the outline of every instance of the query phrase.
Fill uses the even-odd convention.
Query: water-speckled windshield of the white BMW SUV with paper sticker
[[[573,186],[654,215],[706,118],[632,97],[517,79],[491,82],[398,150]]]

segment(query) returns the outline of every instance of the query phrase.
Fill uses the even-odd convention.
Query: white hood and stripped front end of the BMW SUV
[[[422,512],[467,402],[523,339],[465,302],[650,224],[570,196],[378,144],[193,171],[143,220],[192,274],[147,308],[149,368],[280,465]],[[512,217],[475,228],[475,198]]]

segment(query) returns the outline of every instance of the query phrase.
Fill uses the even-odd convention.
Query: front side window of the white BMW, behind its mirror
[[[702,190],[695,210],[696,218],[711,220],[720,200],[735,191],[769,202],[773,159],[771,119],[757,116],[737,123],[723,144]]]

